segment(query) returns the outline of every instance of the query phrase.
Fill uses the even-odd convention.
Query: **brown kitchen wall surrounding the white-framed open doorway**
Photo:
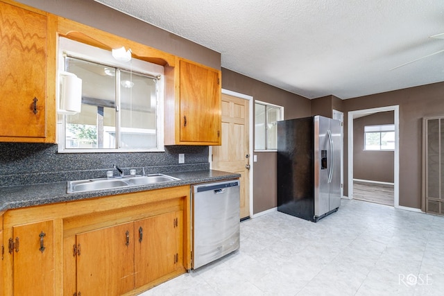
[[[400,107],[400,205],[421,207],[421,125],[422,117],[444,114],[444,82],[393,92],[373,94],[343,101],[344,131],[348,130],[347,112],[375,107]],[[344,142],[344,194],[348,194],[348,140]]]

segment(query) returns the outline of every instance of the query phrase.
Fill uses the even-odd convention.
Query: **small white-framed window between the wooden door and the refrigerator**
[[[255,150],[278,148],[278,121],[284,118],[284,107],[255,102]]]

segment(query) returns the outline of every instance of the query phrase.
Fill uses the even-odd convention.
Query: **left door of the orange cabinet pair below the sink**
[[[76,235],[77,292],[121,295],[134,288],[134,223]]]

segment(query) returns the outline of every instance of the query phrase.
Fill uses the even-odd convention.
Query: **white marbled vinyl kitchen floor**
[[[150,295],[443,295],[444,217],[360,200],[312,223],[271,211],[241,247]]]

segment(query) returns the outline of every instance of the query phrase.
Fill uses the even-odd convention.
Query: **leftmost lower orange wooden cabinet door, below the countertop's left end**
[[[12,228],[14,295],[54,295],[53,220]]]

